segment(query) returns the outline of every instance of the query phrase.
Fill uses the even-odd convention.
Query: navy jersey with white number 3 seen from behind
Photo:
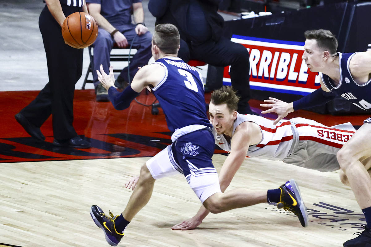
[[[170,131],[193,124],[212,127],[206,116],[202,76],[178,57],[164,57],[155,63],[165,68],[165,77],[152,88],[164,110]]]

